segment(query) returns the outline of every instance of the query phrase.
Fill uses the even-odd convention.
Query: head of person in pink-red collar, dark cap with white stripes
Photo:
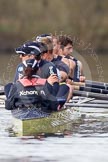
[[[32,79],[33,75],[36,75],[39,69],[39,63],[36,59],[28,59],[23,61],[24,65],[24,76],[28,79]]]

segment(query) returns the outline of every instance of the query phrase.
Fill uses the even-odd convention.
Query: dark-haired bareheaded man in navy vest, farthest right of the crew
[[[70,68],[70,78],[73,81],[85,81],[85,76],[83,74],[82,63],[71,56],[73,52],[73,42],[70,37],[67,36],[58,36],[53,38],[53,43],[57,49],[56,55],[58,52],[59,56],[63,58],[67,58],[69,60],[69,68]],[[58,44],[58,46],[56,45]]]

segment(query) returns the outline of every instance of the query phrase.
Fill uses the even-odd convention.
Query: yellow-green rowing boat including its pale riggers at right
[[[107,106],[105,108],[101,108],[99,106],[97,108],[94,106],[84,106],[86,101],[92,102],[91,100],[93,101],[93,99],[87,98],[82,99],[82,101],[77,101],[77,103],[66,103],[65,109],[53,112],[51,114],[42,113],[42,115],[40,115],[38,118],[27,117],[18,119],[14,117],[13,130],[16,136],[35,136],[36,134],[41,133],[64,133],[66,130],[71,132],[73,125],[81,124],[83,119],[85,119],[87,116],[96,117],[100,114],[103,114],[103,116],[108,115]]]

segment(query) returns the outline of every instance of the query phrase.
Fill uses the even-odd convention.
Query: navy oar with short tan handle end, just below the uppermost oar
[[[93,88],[93,87],[85,87],[85,86],[74,86],[75,90],[79,91],[86,91],[86,92],[94,92],[94,93],[101,93],[101,94],[108,94],[108,90],[100,89],[100,88]]]

